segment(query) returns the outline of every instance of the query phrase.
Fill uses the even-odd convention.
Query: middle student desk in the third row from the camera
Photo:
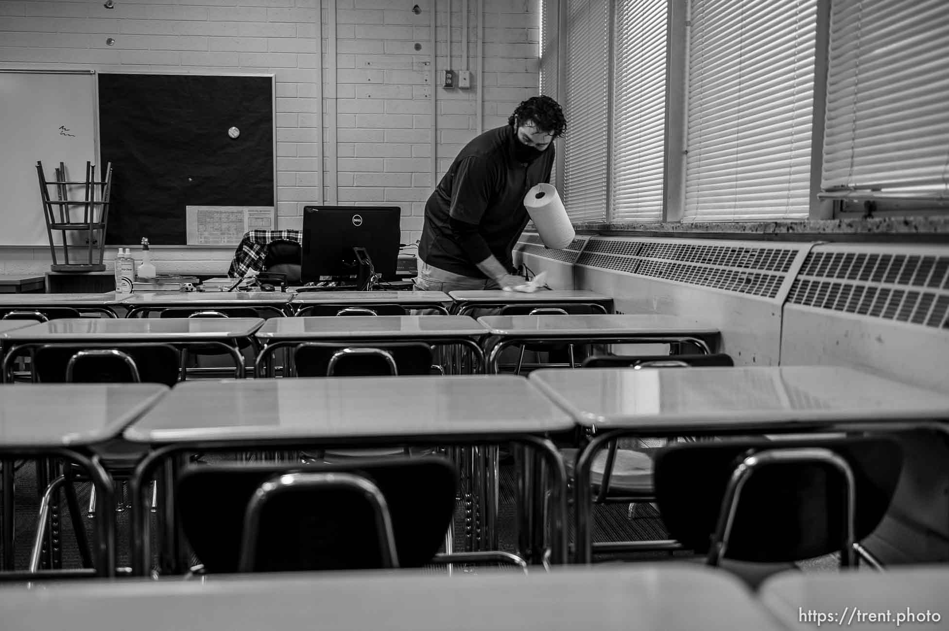
[[[467,315],[325,315],[272,318],[257,331],[264,344],[257,356],[254,374],[272,376],[273,352],[304,342],[424,342],[440,346],[457,345],[474,353],[480,371],[484,369],[481,338],[487,329]]]

